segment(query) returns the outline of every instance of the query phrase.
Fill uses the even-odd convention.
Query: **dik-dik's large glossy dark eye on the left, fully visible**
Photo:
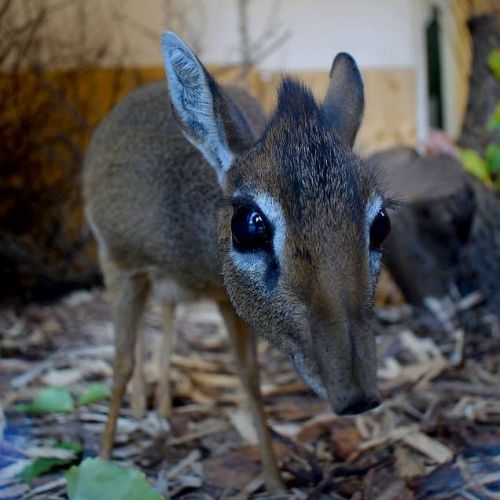
[[[269,242],[269,230],[262,214],[254,207],[237,208],[231,220],[233,242],[238,250],[256,250]]]

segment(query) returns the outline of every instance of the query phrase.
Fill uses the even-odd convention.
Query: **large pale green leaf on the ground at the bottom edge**
[[[125,469],[102,458],[87,458],[66,473],[70,499],[162,500],[136,469]]]

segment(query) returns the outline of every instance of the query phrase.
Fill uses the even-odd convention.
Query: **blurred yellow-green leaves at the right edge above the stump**
[[[487,64],[497,80],[500,80],[500,49],[488,54]],[[500,103],[486,123],[486,130],[490,133],[500,130]],[[458,155],[464,169],[489,187],[500,192],[500,144],[488,144],[483,155],[474,149],[458,150]]]

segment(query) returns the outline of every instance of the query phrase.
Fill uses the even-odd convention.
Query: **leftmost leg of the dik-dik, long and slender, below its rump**
[[[144,275],[119,276],[114,280],[113,286],[116,287],[113,304],[115,359],[109,415],[101,447],[101,456],[105,458],[111,455],[116,421],[134,368],[137,330],[148,296],[149,280]]]

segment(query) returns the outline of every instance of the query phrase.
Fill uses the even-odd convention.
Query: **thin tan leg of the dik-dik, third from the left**
[[[175,347],[174,316],[175,304],[164,302],[162,305],[163,335],[160,344],[160,376],[156,386],[156,411],[162,417],[172,414],[172,395],[170,393],[170,358]]]

